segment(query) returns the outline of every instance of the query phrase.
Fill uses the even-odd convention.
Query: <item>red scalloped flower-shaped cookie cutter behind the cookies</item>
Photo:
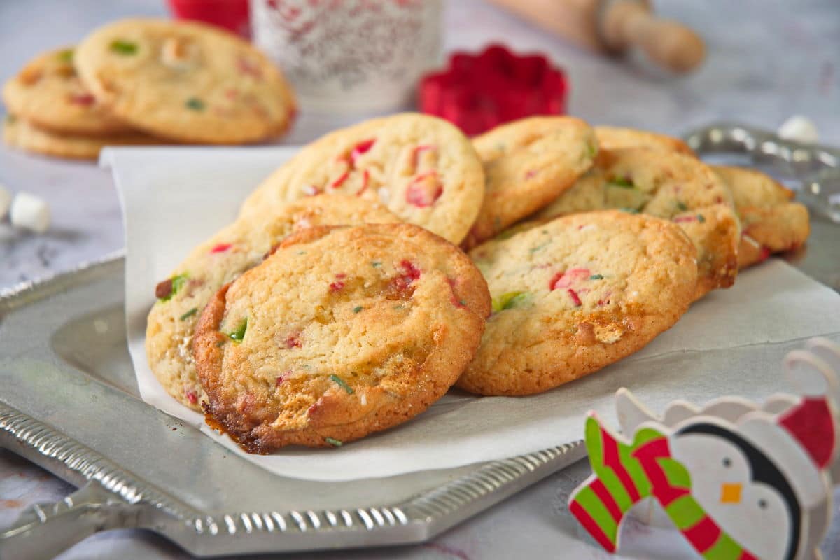
[[[420,110],[478,134],[529,115],[562,114],[567,92],[563,71],[545,56],[491,44],[478,55],[456,52],[447,69],[425,76]]]

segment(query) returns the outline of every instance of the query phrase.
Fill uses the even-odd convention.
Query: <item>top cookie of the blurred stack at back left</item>
[[[180,142],[238,144],[282,133],[295,102],[280,71],[233,34],[125,19],[76,49],[81,80],[117,118]]]

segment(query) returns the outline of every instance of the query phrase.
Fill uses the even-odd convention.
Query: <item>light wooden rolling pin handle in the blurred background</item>
[[[685,73],[699,65],[706,47],[694,31],[667,19],[656,18],[638,0],[616,0],[601,16],[601,34],[611,50],[635,45],[670,71]]]

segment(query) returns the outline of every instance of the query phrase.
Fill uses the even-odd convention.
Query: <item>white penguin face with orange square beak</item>
[[[761,558],[787,557],[793,522],[785,497],[755,479],[737,442],[708,433],[678,433],[672,456],[691,477],[691,495],[738,544]]]

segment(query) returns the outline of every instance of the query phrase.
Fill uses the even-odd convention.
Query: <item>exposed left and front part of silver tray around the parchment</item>
[[[116,257],[0,294],[0,445],[81,487],[0,533],[0,557],[131,527],[197,556],[423,542],[585,456],[575,442],[386,479],[270,474],[140,400],[123,280]]]

